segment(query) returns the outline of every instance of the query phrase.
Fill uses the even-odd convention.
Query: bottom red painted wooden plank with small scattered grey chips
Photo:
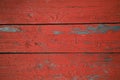
[[[3,54],[0,80],[120,80],[119,54]]]

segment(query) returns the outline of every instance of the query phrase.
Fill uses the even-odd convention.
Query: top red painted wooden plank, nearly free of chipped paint
[[[0,24],[120,22],[120,0],[0,0]]]

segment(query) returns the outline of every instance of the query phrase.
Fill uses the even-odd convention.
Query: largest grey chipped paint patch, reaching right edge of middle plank
[[[108,31],[119,31],[120,26],[107,26],[100,24],[97,27],[89,26],[85,30],[80,28],[73,28],[72,33],[74,34],[93,34],[93,33],[107,33]]]

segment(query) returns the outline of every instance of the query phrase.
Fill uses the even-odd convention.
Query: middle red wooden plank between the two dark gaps
[[[120,52],[120,24],[1,25],[0,52]]]

